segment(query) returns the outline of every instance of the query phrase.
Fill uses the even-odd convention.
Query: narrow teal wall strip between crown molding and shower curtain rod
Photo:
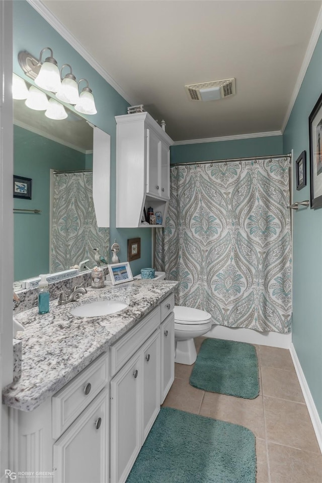
[[[212,143],[182,144],[171,147],[171,164],[212,161],[249,156],[269,156],[283,152],[282,136],[236,139]]]

